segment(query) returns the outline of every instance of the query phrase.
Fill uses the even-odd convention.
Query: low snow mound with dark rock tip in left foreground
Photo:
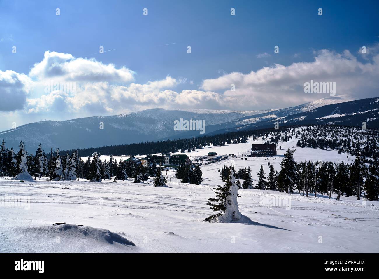
[[[135,252],[132,241],[106,229],[56,223],[15,231],[12,250],[17,252]]]

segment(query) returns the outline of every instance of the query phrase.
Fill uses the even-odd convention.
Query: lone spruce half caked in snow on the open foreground
[[[216,199],[208,199],[207,205],[217,213],[205,218],[204,221],[217,223],[251,221],[238,210],[238,188],[232,168],[230,169],[229,179],[225,185],[217,186],[215,190]]]

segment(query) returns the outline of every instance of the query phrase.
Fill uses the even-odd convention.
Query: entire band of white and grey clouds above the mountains
[[[75,58],[71,54],[45,52],[28,75],[0,71],[2,102],[0,111],[24,109],[26,113],[67,113],[71,116],[117,114],[152,107],[207,109],[266,109],[288,107],[329,95],[304,93],[311,79],[336,82],[337,95],[357,98],[377,96],[379,88],[379,50],[359,59],[349,51],[321,50],[310,62],[285,66],[274,64],[250,73],[220,73],[205,79],[197,90],[175,91],[188,84],[186,78],[171,76],[144,84],[135,82],[135,73],[125,67],[103,64],[95,59]],[[363,62],[362,62],[363,61]],[[74,94],[47,85],[67,84]],[[193,81],[189,81],[193,84]],[[232,91],[232,85],[235,90]]]

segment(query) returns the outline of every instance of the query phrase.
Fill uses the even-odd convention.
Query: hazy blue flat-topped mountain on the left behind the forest
[[[147,109],[140,112],[113,116],[78,118],[66,121],[41,121],[0,132],[7,147],[18,150],[20,141],[28,151],[34,152],[41,143],[45,151],[59,147],[61,150],[117,145],[158,140],[181,133],[174,131],[174,121],[183,119],[205,120],[206,125],[263,113],[267,110],[167,110]],[[103,123],[103,129],[100,126]]]

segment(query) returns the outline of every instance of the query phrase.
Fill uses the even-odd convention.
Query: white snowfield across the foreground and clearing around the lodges
[[[251,222],[203,221],[213,214],[206,202],[215,197],[214,186],[222,183],[218,169],[224,164],[235,165],[237,171],[250,166],[256,180],[261,164],[266,175],[267,162],[279,170],[287,147],[296,149],[297,161],[354,160],[335,150],[296,147],[296,142],[280,143],[279,156],[269,159],[238,157],[203,165],[202,185],[180,183],[171,171],[168,188],[153,187],[152,181],[21,183],[4,177],[0,252],[379,252],[379,202],[356,197],[337,201],[320,194],[315,198],[239,189],[239,211]],[[186,154],[241,154],[251,144],[249,140]],[[5,197],[19,206],[1,203]],[[53,225],[60,222],[67,224]]]

